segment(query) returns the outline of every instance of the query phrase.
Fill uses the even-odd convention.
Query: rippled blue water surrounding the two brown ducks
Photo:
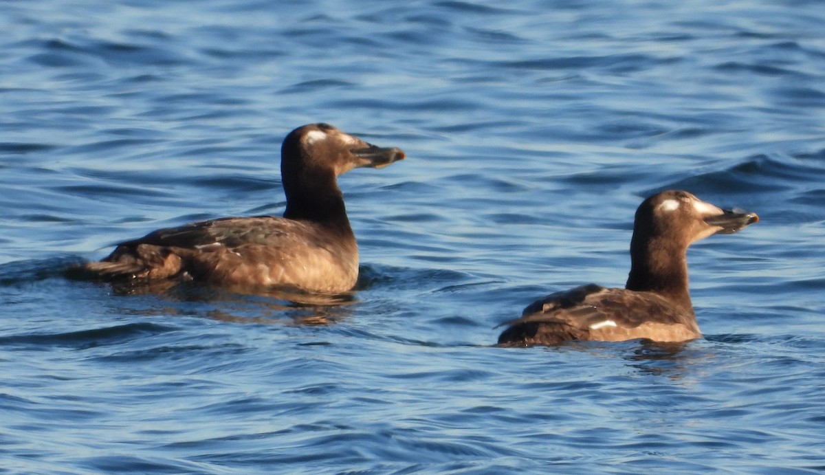
[[[825,472],[818,0],[0,2],[0,472]],[[352,302],[66,280],[154,228],[340,184]],[[691,247],[705,338],[501,349],[624,285],[644,196],[761,222]]]

